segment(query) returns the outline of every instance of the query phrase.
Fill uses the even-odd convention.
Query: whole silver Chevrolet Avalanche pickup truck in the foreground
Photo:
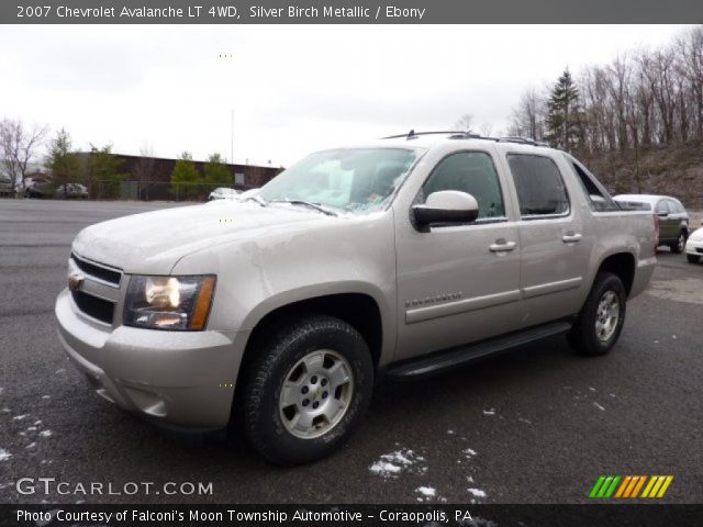
[[[200,430],[237,415],[266,458],[304,462],[349,437],[381,373],[560,333],[607,352],[656,237],[563,152],[411,133],[313,154],[244,202],[85,228],[58,335],[119,406]]]

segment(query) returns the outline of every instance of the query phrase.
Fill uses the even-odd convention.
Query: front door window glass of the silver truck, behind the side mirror
[[[459,190],[476,198],[479,220],[505,216],[495,166],[483,152],[460,152],[445,157],[425,181],[420,202],[440,190]]]

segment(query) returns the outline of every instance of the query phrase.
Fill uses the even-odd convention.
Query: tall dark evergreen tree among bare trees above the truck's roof
[[[583,120],[577,88],[569,68],[559,77],[547,100],[547,141],[555,147],[573,149],[583,139]]]

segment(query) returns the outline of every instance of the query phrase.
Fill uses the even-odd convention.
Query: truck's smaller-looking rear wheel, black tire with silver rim
[[[568,334],[569,344],[582,355],[607,354],[617,343],[623,329],[627,310],[626,300],[627,294],[622,280],[612,272],[600,272]],[[610,311],[602,311],[605,305],[610,306]],[[616,318],[613,311],[615,309]],[[609,322],[604,324],[604,321]]]

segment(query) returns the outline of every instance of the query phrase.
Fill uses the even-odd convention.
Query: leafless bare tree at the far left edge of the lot
[[[25,188],[32,160],[36,157],[48,130],[37,124],[25,128],[21,120],[0,121],[0,156],[14,188]]]

